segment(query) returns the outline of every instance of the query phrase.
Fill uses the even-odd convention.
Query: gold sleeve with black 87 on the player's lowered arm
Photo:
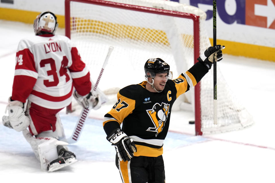
[[[103,128],[105,133],[109,135],[116,128],[120,128],[124,118],[135,109],[135,100],[117,94],[117,102],[113,108],[104,116]]]

